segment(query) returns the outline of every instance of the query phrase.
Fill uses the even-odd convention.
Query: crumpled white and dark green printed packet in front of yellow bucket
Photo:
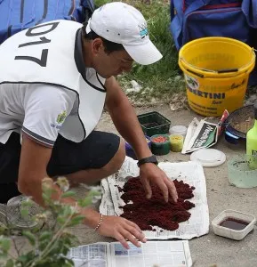
[[[229,112],[225,109],[221,120],[217,123],[208,122],[207,118],[198,121],[195,117],[189,124],[181,153],[187,154],[203,148],[207,149],[216,144],[223,130],[222,125],[228,116]]]

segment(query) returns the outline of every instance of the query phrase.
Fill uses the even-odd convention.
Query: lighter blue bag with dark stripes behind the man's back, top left
[[[0,44],[24,28],[50,20],[84,22],[93,0],[0,0]]]

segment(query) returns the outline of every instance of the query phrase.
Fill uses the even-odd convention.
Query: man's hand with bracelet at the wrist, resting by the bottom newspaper
[[[129,240],[136,247],[141,247],[138,240],[145,243],[147,240],[137,224],[122,217],[103,216],[99,228],[100,235],[111,237],[119,241],[126,249],[129,249],[126,240]]]

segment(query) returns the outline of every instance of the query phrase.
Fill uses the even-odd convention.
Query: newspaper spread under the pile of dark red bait
[[[123,188],[128,176],[138,176],[139,167],[137,161],[126,157],[123,166],[118,174],[108,176],[102,180],[103,196],[100,205],[101,214],[123,214],[124,201],[117,188]],[[209,210],[206,198],[205,174],[203,167],[197,162],[169,163],[162,162],[158,165],[165,171],[170,179],[183,180],[194,186],[194,198],[190,201],[196,206],[190,209],[189,221],[180,223],[176,231],[166,231],[155,227],[156,231],[144,231],[147,239],[192,239],[205,235],[209,231]],[[111,206],[111,202],[113,205]],[[108,204],[108,205],[107,205]]]

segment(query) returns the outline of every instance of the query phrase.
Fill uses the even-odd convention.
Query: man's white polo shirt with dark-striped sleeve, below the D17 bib
[[[37,142],[52,147],[65,121],[61,114],[74,116],[76,103],[76,93],[58,86],[5,85],[0,93],[0,142],[5,143],[12,131],[20,133],[22,129]]]

